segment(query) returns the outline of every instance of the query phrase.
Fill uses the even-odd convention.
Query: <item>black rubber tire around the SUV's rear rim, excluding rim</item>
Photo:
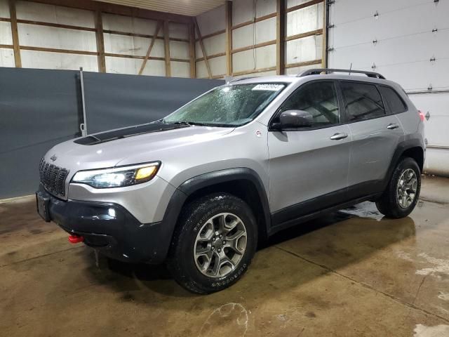
[[[412,169],[415,172],[417,185],[413,202],[403,208],[398,201],[398,180],[401,178],[403,172]],[[417,204],[420,197],[421,190],[421,172],[415,159],[410,157],[403,157],[400,159],[396,169],[394,169],[391,179],[387,185],[387,189],[382,194],[382,197],[376,201],[377,209],[387,218],[405,218],[408,216]]]

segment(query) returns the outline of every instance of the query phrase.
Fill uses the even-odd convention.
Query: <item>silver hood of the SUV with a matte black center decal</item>
[[[234,128],[186,126],[133,126],[60,143],[44,159],[70,171],[100,169],[160,160],[161,152],[195,143],[207,143],[231,133]],[[155,125],[155,124],[153,124]],[[117,136],[119,135],[119,136]],[[128,159],[128,160],[127,160]],[[131,162],[130,162],[131,161]]]

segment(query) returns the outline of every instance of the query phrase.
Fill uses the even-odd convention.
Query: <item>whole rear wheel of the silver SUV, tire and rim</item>
[[[403,158],[396,166],[387,190],[377,200],[377,209],[389,218],[404,218],[415,209],[420,190],[420,167],[414,159]]]

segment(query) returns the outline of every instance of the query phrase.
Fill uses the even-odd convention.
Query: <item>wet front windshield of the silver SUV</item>
[[[283,83],[220,86],[163,119],[207,126],[241,126],[257,117],[286,87]]]

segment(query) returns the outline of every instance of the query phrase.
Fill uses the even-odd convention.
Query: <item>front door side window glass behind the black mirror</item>
[[[333,82],[318,81],[301,86],[281,106],[286,110],[304,110],[314,118],[312,127],[340,122],[337,94]]]

